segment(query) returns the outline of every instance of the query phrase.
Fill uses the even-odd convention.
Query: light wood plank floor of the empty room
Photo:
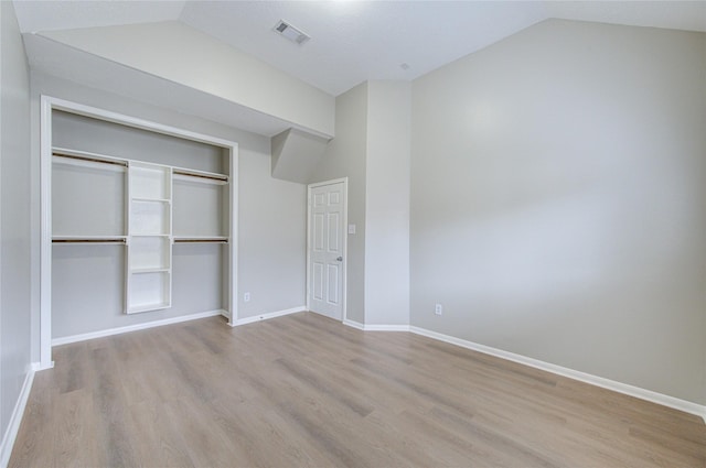
[[[301,313],[66,345],[11,467],[704,467],[696,416]]]

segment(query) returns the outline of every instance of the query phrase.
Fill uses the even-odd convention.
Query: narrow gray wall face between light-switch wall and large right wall
[[[409,83],[368,81],[366,325],[409,324],[410,107]]]

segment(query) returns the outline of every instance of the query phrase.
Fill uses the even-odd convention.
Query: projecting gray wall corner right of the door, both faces
[[[366,81],[336,98],[336,137],[311,182],[349,177],[347,318],[409,323],[411,87]]]

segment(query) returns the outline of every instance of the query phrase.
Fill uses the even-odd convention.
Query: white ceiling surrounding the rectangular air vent
[[[179,20],[331,95],[414,79],[547,18],[706,31],[702,1],[28,1],[23,33]],[[284,19],[312,39],[272,32]],[[407,64],[408,69],[403,69]]]

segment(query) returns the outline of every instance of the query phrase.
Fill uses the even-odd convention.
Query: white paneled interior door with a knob
[[[309,186],[309,309],[343,319],[345,181]]]

